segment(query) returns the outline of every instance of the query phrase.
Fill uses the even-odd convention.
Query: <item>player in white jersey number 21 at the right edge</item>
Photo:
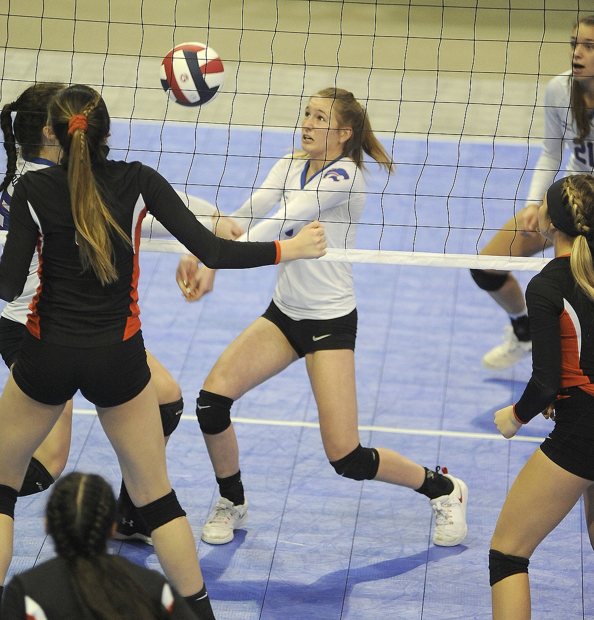
[[[538,209],[544,193],[559,173],[564,149],[570,151],[565,174],[594,169],[594,15],[581,17],[570,42],[571,69],[547,84],[544,95],[544,137],[528,200],[523,210],[503,226],[480,254],[533,256],[550,246],[538,232]],[[532,343],[524,293],[510,272],[471,269],[477,285],[510,316],[502,344],[490,350],[483,364],[505,370],[527,358]]]

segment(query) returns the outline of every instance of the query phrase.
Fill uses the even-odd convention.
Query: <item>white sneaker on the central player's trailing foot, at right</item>
[[[442,495],[430,500],[435,515],[433,543],[440,547],[454,547],[460,544],[468,531],[466,525],[466,502],[468,487],[459,478],[444,474],[454,483],[454,490],[449,495]]]

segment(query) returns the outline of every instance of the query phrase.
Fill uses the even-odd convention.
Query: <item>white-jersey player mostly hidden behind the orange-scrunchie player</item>
[[[7,154],[7,174],[0,184],[1,230],[8,229],[12,192],[20,175],[31,170],[54,166],[60,159],[60,144],[56,138],[48,135],[45,125],[48,105],[63,88],[63,84],[40,82],[27,88],[15,102],[2,108],[0,126]],[[207,228],[212,228],[213,232],[216,228],[219,236],[236,238],[243,232],[232,219],[222,217],[215,206],[207,201],[186,194],[181,194],[181,197],[197,219]],[[142,235],[153,238],[171,237],[163,224],[151,215],[143,219]],[[39,286],[38,267],[38,255],[35,253],[22,295],[7,303],[0,317],[0,354],[9,368],[19,353],[27,315],[30,314],[29,304]],[[167,440],[181,417],[183,408],[181,388],[169,371],[150,352],[147,351],[146,355],[151,379],[156,386],[163,432]],[[47,489],[60,476],[68,459],[71,426],[72,401],[68,402],[50,435],[35,451],[20,495],[30,495]],[[150,536],[138,519],[137,511],[123,483],[120,491],[120,512],[122,514],[117,536],[150,542]]]

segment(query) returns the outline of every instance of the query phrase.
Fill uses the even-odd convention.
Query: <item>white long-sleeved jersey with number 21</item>
[[[592,174],[594,171],[594,131],[590,118],[590,133],[582,144],[574,142],[577,138],[571,111],[570,71],[553,78],[544,93],[544,136],[542,153],[536,163],[530,189],[528,204],[540,205],[549,186],[560,170],[563,149],[569,148],[571,155],[565,168],[565,175],[576,173]]]

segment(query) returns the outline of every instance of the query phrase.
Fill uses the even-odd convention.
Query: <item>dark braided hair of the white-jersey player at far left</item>
[[[17,172],[17,159],[38,157],[43,146],[43,127],[47,125],[47,108],[58,92],[65,88],[57,82],[38,82],[22,92],[11,104],[0,112],[0,128],[4,135],[6,150],[6,175],[0,183],[0,192],[12,182]],[[12,112],[16,112],[14,123]]]

